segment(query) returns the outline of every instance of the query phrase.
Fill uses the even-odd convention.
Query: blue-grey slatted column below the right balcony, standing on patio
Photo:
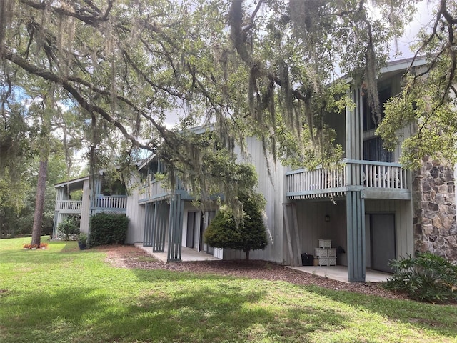
[[[346,220],[348,239],[348,282],[364,282],[365,251],[365,199],[362,192],[346,194]]]

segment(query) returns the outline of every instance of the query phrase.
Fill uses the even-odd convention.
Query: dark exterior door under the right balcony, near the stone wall
[[[371,269],[391,273],[388,265],[396,259],[395,215],[371,214]]]

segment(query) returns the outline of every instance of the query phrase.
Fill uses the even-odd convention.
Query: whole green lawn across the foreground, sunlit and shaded
[[[0,342],[457,342],[457,307],[286,282],[116,269],[0,240]]]

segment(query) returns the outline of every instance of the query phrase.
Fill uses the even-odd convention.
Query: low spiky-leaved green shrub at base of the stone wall
[[[457,266],[430,252],[391,262],[395,274],[386,289],[406,292],[411,299],[426,302],[457,300]]]

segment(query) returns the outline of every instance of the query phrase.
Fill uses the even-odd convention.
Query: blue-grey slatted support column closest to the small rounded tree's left
[[[173,195],[170,204],[169,249],[167,261],[181,261],[184,201],[181,194]]]

